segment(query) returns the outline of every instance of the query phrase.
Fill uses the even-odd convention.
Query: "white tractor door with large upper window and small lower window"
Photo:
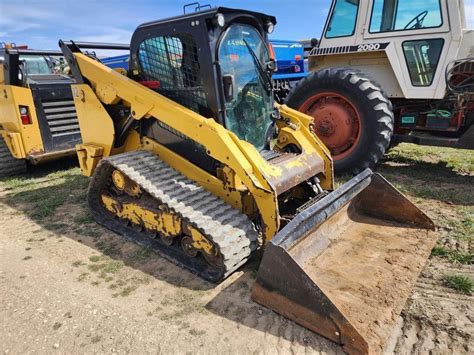
[[[443,98],[448,57],[454,57],[451,1],[372,0],[364,42],[387,43],[388,60],[407,99]],[[452,6],[450,4],[449,6]],[[364,51],[374,48],[366,46]],[[378,78],[384,86],[384,79]]]

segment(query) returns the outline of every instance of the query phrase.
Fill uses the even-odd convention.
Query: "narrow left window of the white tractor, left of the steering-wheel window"
[[[336,0],[326,30],[326,38],[352,36],[357,22],[359,0]]]

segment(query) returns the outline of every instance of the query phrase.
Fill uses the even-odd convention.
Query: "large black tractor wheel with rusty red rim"
[[[286,104],[314,118],[313,130],[331,151],[337,174],[372,168],[393,135],[391,102],[365,74],[345,68],[311,73]]]

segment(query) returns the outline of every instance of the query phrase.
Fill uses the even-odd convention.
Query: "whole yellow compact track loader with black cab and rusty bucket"
[[[60,42],[98,223],[220,282],[263,248],[252,297],[352,353],[381,352],[434,244],[370,170],[334,190],[311,117],[273,101],[272,16],[214,8],[139,26],[128,73]]]

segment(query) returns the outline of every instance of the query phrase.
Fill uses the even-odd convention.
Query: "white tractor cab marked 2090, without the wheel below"
[[[392,98],[443,98],[445,68],[465,35],[463,14],[462,0],[334,0],[310,68],[337,55],[333,65],[377,78]]]

